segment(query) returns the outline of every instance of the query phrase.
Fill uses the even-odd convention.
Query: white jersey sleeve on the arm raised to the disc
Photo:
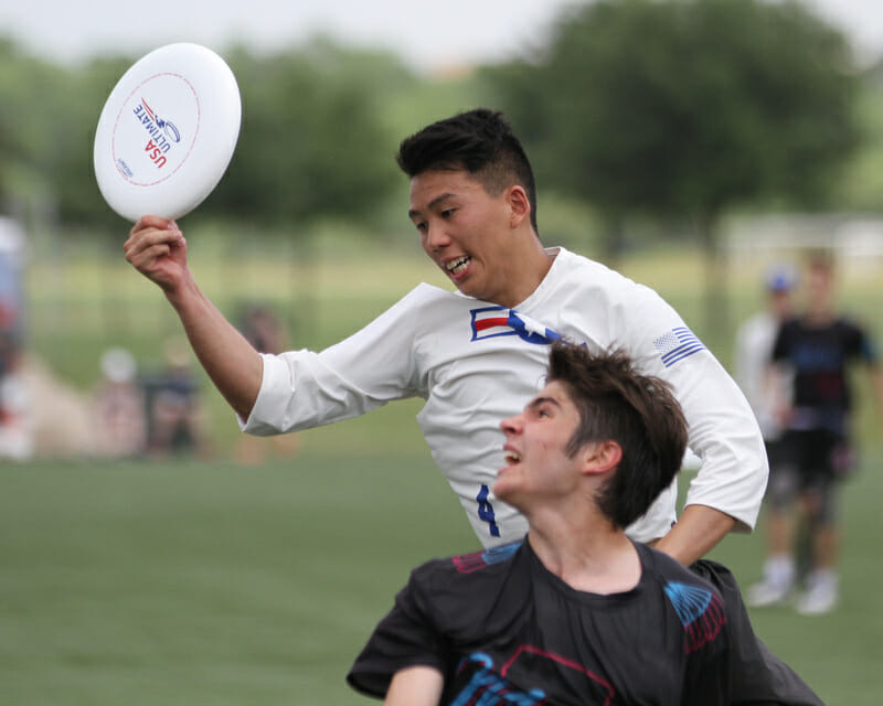
[[[269,436],[349,419],[392,399],[424,394],[412,291],[348,339],[326,349],[264,354],[264,377],[243,431]]]

